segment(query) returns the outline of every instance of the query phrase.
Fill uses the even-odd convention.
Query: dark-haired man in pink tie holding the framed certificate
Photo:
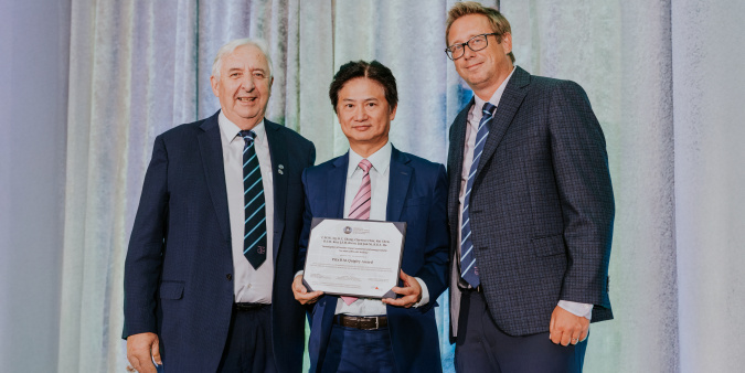
[[[350,62],[329,89],[350,151],[302,174],[305,224],[298,271],[312,217],[406,222],[397,299],[309,292],[302,276],[292,290],[313,303],[311,372],[440,372],[433,307],[446,289],[447,178],[441,164],[398,151],[389,141],[396,83],[376,61]],[[343,298],[343,299],[342,299]]]

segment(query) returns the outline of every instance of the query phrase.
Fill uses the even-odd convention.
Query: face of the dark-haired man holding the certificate
[[[337,116],[350,147],[358,151],[360,146],[382,147],[387,142],[396,107],[389,106],[383,85],[366,77],[355,77],[339,90]]]

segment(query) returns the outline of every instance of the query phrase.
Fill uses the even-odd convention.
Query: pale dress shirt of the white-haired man
[[[272,186],[272,157],[266,139],[266,128],[262,120],[252,130],[256,134],[254,147],[262,172],[264,200],[266,201],[266,260],[254,267],[243,254],[243,236],[245,231],[245,212],[243,198],[243,148],[245,141],[233,124],[222,111],[217,118],[220,138],[223,147],[225,167],[225,186],[227,190],[227,210],[231,219],[231,248],[233,252],[233,289],[236,302],[272,303],[274,279],[274,188]]]

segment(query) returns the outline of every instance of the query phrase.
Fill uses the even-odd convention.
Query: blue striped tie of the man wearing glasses
[[[479,168],[479,160],[483,152],[483,143],[487,142],[489,136],[489,125],[494,115],[493,106],[489,103],[483,104],[483,116],[479,121],[479,130],[476,134],[476,146],[473,147],[473,162],[471,170],[468,173],[468,182],[466,183],[466,195],[464,196],[464,213],[462,223],[460,225],[460,276],[476,288],[481,284],[479,279],[479,268],[476,265],[476,254],[473,253],[473,242],[471,241],[471,223],[469,219],[468,207],[470,206],[471,188],[473,186],[473,179],[476,170]]]

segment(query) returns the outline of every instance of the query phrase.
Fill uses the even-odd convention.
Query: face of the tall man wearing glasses
[[[450,25],[448,45],[468,42],[480,34],[492,33],[489,19],[483,14],[468,14],[457,19]],[[501,43],[498,43],[501,38]],[[512,35],[487,36],[488,46],[473,52],[465,47],[464,55],[455,60],[456,71],[476,93],[493,94],[504,78],[512,72],[512,62],[507,54],[512,52]],[[485,98],[485,97],[481,97]],[[489,99],[486,97],[485,99]]]

